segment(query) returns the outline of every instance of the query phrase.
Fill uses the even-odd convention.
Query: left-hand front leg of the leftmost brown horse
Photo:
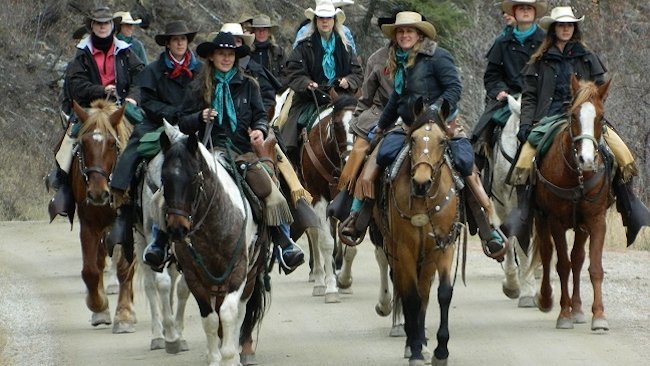
[[[111,314],[108,310],[108,297],[104,292],[104,266],[106,252],[100,241],[101,231],[89,228],[86,223],[80,224],[79,238],[83,268],[81,278],[86,284],[86,306],[93,312],[90,324],[111,324]]]

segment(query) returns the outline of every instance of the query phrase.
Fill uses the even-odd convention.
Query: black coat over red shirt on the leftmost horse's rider
[[[140,103],[140,92],[134,81],[138,73],[144,68],[140,59],[131,53],[130,45],[115,38],[115,86],[119,101],[131,98]],[[82,107],[90,107],[96,99],[105,99],[104,85],[102,85],[99,68],[93,59],[90,36],[83,38],[77,44],[77,54],[68,64],[66,82],[72,98]]]

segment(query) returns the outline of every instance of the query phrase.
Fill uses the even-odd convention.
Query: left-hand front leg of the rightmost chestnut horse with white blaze
[[[560,278],[560,315],[557,318],[555,327],[557,329],[573,329],[573,319],[571,318],[571,297],[569,296],[569,273],[571,272],[571,260],[569,259],[566,232],[561,224],[553,220],[551,225],[551,235],[555,243],[555,253],[557,254],[556,270]]]

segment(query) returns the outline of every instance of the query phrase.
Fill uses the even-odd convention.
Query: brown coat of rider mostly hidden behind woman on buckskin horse
[[[370,129],[377,124],[393,92],[393,80],[386,69],[389,48],[389,45],[386,45],[378,49],[366,62],[361,98],[354,110],[355,118],[350,122],[350,128],[357,136],[363,138],[366,138]]]

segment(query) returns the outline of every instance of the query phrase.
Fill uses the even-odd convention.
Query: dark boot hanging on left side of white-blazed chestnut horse
[[[508,238],[517,237],[519,245],[527,252],[533,228],[531,209],[533,189],[530,185],[517,185],[515,189],[517,191],[517,207],[510,211],[508,217],[503,220],[501,230]]]

